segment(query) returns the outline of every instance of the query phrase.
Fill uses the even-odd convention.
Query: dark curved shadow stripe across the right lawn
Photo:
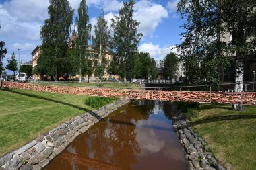
[[[198,124],[207,124],[211,122],[218,122],[223,120],[240,120],[240,119],[255,119],[256,114],[232,114],[232,115],[224,115],[224,116],[212,116],[210,118],[205,118],[203,120],[197,120],[195,122],[191,122],[193,126]]]

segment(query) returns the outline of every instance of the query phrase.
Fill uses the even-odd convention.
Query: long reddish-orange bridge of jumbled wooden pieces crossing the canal
[[[101,87],[65,87],[56,85],[41,85],[36,83],[3,82],[3,87],[12,89],[27,89],[47,91],[72,95],[89,95],[100,97],[129,97],[129,99],[159,100],[159,101],[190,101],[199,103],[240,103],[256,105],[255,92],[210,92],[210,91],[162,91],[145,89],[111,89]]]

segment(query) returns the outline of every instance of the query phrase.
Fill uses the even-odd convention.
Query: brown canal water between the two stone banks
[[[44,170],[189,169],[170,103],[135,101],[92,126]]]

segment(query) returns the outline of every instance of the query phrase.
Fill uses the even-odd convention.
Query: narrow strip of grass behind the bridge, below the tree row
[[[38,82],[36,82],[35,84],[38,84]],[[71,86],[71,87],[98,87],[99,83],[71,83],[71,82],[67,82],[64,83],[63,81],[59,81],[57,83],[55,83],[54,81],[42,81],[39,82],[39,84],[42,85],[59,85],[59,86]],[[101,83],[101,87],[114,87],[114,88],[122,88],[122,89],[137,89],[139,87],[141,87],[141,85],[137,84],[137,83]]]

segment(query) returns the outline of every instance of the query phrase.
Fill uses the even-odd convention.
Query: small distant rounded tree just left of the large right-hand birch
[[[174,53],[167,54],[164,58],[164,79],[175,78],[175,74],[178,70],[179,58]]]

